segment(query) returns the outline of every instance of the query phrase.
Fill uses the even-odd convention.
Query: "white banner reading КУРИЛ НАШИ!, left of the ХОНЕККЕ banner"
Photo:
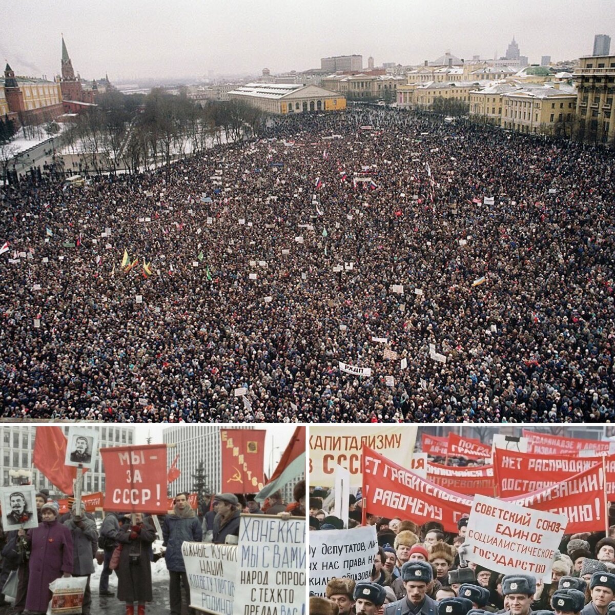
[[[233,615],[237,549],[237,545],[212,542],[182,544],[192,608],[214,615]]]

